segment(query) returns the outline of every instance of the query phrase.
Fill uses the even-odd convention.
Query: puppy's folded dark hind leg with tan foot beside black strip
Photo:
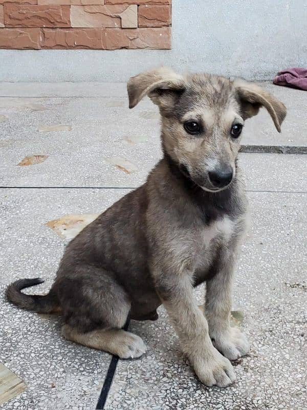
[[[62,335],[66,339],[122,359],[145,353],[143,340],[122,330],[131,303],[112,272],[78,265],[73,277],[58,283],[58,292],[65,321]]]

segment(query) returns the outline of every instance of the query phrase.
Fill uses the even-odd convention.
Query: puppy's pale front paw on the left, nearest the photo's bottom
[[[205,358],[196,358],[192,365],[196,376],[206,386],[227,387],[236,380],[232,364],[214,347]]]

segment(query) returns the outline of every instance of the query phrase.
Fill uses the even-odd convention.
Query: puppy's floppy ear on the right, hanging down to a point
[[[253,117],[258,114],[260,107],[265,107],[271,115],[277,131],[280,132],[281,123],[287,114],[287,109],[281,101],[255,84],[243,80],[236,81],[234,84],[244,119]]]

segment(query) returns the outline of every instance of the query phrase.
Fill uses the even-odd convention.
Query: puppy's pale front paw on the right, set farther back
[[[226,332],[211,337],[213,345],[229,360],[236,360],[249,352],[249,342],[237,327],[229,327]]]

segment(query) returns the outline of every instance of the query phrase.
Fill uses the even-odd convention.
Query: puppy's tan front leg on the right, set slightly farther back
[[[230,360],[249,351],[245,335],[230,327],[232,282],[236,249],[222,248],[215,261],[215,275],[207,281],[205,316],[214,346]]]

